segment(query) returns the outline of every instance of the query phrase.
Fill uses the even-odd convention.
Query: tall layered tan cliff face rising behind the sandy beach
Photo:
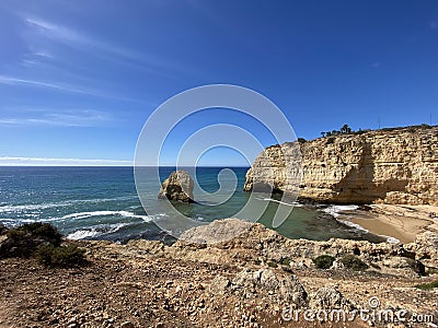
[[[438,204],[438,127],[269,147],[246,173],[244,190],[263,185],[318,202]]]

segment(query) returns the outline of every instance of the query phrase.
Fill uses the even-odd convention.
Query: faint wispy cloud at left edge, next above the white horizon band
[[[33,110],[32,117],[0,118],[3,126],[61,126],[61,127],[95,127],[112,120],[108,114],[101,110],[74,109],[60,113]]]

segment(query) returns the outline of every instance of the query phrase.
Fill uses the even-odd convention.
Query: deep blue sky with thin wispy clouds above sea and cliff
[[[0,165],[127,165],[158,105],[211,83],[262,93],[306,139],[438,121],[437,1],[3,0],[0,44]]]

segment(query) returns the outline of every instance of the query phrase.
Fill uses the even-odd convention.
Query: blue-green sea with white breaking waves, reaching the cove
[[[222,168],[196,167],[199,186],[208,192],[219,190],[218,174]],[[235,191],[228,201],[215,207],[201,202],[174,203],[174,207],[184,215],[198,221],[234,216],[249,199],[249,194],[242,191],[247,167],[228,168],[237,177]],[[142,169],[146,175],[150,169],[152,181],[155,169]],[[174,169],[160,167],[160,178],[164,179]],[[143,209],[137,195],[132,167],[0,166],[0,223],[13,227],[23,223],[48,222],[72,239],[126,243],[132,238],[147,238],[172,243],[173,237],[154,224],[158,216],[171,215],[157,213],[161,209],[158,192],[151,183],[147,196],[151,199],[151,208]],[[279,198],[256,199],[267,204],[258,222],[272,227],[272,218],[279,206]],[[383,241],[381,236],[336,219],[339,210],[354,209],[354,206],[343,208],[298,203],[276,230],[290,238]]]

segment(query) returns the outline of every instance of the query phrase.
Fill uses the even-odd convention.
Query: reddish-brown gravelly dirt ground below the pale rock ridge
[[[77,243],[87,248],[87,242]],[[214,293],[217,276],[234,277],[242,265],[211,265],[154,256],[111,254],[103,259],[89,254],[82,268],[48,269],[33,259],[0,261],[0,327],[369,327],[379,320],[321,323],[283,318],[287,311],[268,295],[246,298]],[[251,268],[253,265],[249,265]],[[258,268],[255,268],[258,269]],[[285,271],[284,268],[269,268]],[[284,273],[284,272],[283,272]],[[390,327],[437,327],[438,290],[414,285],[433,278],[407,279],[348,270],[297,269],[308,294],[321,286],[336,286],[357,308],[369,308],[369,298],[380,306],[406,309],[435,324]],[[287,312],[286,312],[287,313]],[[416,316],[423,315],[423,317]]]

